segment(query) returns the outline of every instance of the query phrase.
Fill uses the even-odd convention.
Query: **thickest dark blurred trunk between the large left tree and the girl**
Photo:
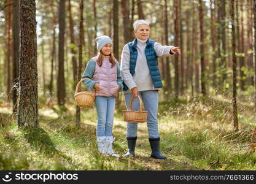
[[[59,1],[59,52],[58,52],[58,81],[57,81],[57,94],[58,94],[58,104],[64,105],[66,88],[65,88],[65,78],[64,78],[64,33],[65,33],[65,0]]]

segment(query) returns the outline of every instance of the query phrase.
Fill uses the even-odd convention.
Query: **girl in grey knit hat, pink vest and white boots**
[[[112,54],[112,40],[108,36],[96,38],[98,55],[88,61],[82,79],[83,84],[95,90],[95,104],[98,115],[96,129],[99,152],[119,157],[112,148],[115,138],[112,137],[115,98],[123,90],[123,80],[118,61]]]

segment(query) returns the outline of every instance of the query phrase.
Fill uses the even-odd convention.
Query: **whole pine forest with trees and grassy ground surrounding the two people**
[[[120,63],[141,19],[181,51],[158,58],[166,160],[149,158],[147,123],[134,158],[99,154],[96,107],[74,100],[96,37],[111,37]],[[255,170],[255,41],[256,0],[0,0],[0,170]],[[116,101],[124,155],[122,92]]]

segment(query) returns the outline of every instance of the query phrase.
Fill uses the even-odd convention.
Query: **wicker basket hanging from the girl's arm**
[[[93,102],[95,100],[95,92],[93,91],[93,93],[91,93],[91,92],[88,92],[88,91],[80,91],[80,92],[77,93],[79,85],[84,80],[88,80],[88,79],[82,79],[82,80],[79,81],[79,83],[77,83],[74,98],[75,98],[77,106],[79,106],[79,107],[91,107],[91,105],[93,105]]]

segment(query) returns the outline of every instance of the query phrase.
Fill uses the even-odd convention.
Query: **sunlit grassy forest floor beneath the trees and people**
[[[123,102],[118,109],[123,109]],[[135,158],[98,153],[96,110],[82,109],[75,126],[74,104],[39,109],[40,128],[17,128],[8,107],[0,107],[0,170],[256,170],[255,110],[238,103],[239,131],[233,131],[230,99],[223,96],[173,99],[159,105],[160,147],[168,159],[150,158],[147,124],[139,123]],[[115,112],[114,150],[127,149],[122,110]]]

